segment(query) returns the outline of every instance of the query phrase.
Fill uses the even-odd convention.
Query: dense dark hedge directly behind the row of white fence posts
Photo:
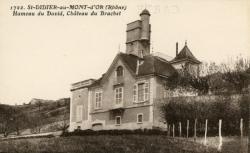
[[[208,119],[209,135],[218,131],[218,120],[222,119],[222,132],[225,135],[239,135],[240,119],[245,125],[248,121],[247,95],[234,97],[224,96],[198,96],[198,97],[172,97],[164,99],[161,112],[168,124],[182,122],[186,125],[190,120],[190,126],[194,120],[198,120],[198,132],[204,133],[205,120]],[[183,126],[186,128],[185,126]],[[191,132],[192,131],[192,128]],[[245,130],[245,133],[247,130]]]

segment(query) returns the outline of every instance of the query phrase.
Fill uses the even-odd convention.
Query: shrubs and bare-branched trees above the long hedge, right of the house
[[[182,65],[179,73],[166,80],[170,89],[177,87],[193,88],[199,94],[244,93],[250,84],[250,60],[237,58],[230,64],[203,63],[199,68],[200,75],[190,70],[190,65]]]

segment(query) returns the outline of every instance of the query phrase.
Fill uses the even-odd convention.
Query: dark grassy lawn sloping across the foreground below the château
[[[1,153],[215,153],[214,148],[162,135],[99,135],[0,141]]]

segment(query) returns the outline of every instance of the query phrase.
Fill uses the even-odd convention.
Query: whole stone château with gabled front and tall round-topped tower
[[[164,128],[157,99],[166,96],[164,80],[183,65],[200,62],[187,44],[168,61],[150,53],[150,13],[127,24],[126,53],[118,53],[99,79],[72,84],[70,131],[74,129]],[[194,71],[196,73],[197,71]]]

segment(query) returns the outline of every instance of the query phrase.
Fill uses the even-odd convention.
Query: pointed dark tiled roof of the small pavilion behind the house
[[[181,61],[181,60],[191,60],[195,63],[201,63],[196,57],[192,54],[190,49],[185,45],[183,49],[178,53],[178,55],[171,61],[172,63]]]

